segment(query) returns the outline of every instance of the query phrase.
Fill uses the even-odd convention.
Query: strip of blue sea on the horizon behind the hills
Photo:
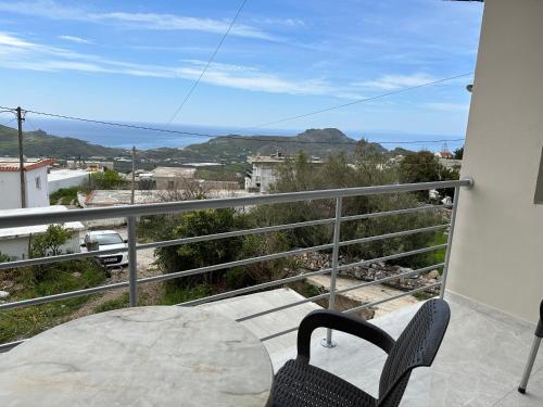
[[[210,135],[213,137],[225,135],[241,135],[241,136],[295,136],[305,130],[305,128],[281,129],[281,128],[265,128],[265,129],[240,129],[235,127],[212,127],[212,126],[194,126],[194,125],[171,125],[156,123],[138,123],[126,122],[127,125],[166,128],[168,130],[186,131],[191,133]],[[13,126],[13,124],[10,124]],[[180,133],[157,132],[152,130],[141,130],[126,127],[117,127],[102,125],[96,123],[75,122],[66,119],[50,119],[33,117],[24,123],[26,131],[41,129],[49,135],[60,137],[73,137],[85,140],[93,144],[100,144],[113,148],[129,149],[135,145],[138,150],[150,150],[161,147],[166,148],[184,148],[193,143],[201,143],[210,140],[207,136],[191,136]],[[429,135],[429,133],[413,133],[401,131],[387,130],[342,130],[352,139],[359,140],[365,138],[372,142],[381,143],[386,149],[392,150],[396,147],[407,150],[430,150],[441,151],[443,148],[449,148],[451,151],[464,144],[462,135]],[[444,145],[443,140],[446,141]],[[454,140],[454,141],[453,141]]]

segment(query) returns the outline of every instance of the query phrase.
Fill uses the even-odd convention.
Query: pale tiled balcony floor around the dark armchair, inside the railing
[[[432,368],[414,371],[402,406],[543,406],[543,349],[535,360],[528,393],[517,392],[534,326],[447,295],[451,322]],[[372,320],[397,338],[419,305]],[[338,346],[325,348],[314,338],[312,364],[376,395],[386,355],[354,336],[334,333]],[[295,356],[291,347],[273,353],[277,370]]]

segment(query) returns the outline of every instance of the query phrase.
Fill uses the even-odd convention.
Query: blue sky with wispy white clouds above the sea
[[[240,2],[0,0],[0,104],[165,124]],[[481,16],[473,2],[249,0],[175,123],[250,127],[470,73]],[[462,137],[471,80],[281,127]]]

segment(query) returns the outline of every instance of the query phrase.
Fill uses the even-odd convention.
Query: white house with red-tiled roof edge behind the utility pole
[[[24,163],[26,207],[49,206],[47,167],[53,160],[28,158]],[[17,158],[0,158],[0,209],[23,207]]]

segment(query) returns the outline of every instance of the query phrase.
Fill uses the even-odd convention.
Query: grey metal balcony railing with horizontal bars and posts
[[[396,300],[399,297],[402,297],[405,295],[411,295],[413,293],[429,290],[429,289],[432,289],[435,287],[441,287],[440,296],[443,296],[444,288],[445,288],[445,283],[446,283],[446,276],[447,276],[447,268],[449,268],[447,266],[449,266],[449,259],[450,259],[450,254],[451,254],[451,243],[452,243],[452,238],[453,238],[453,232],[454,232],[454,222],[455,222],[455,218],[456,218],[456,208],[457,208],[457,203],[458,203],[459,190],[460,190],[460,187],[471,188],[472,185],[473,185],[473,181],[471,179],[462,179],[462,180],[440,181],[440,182],[388,185],[388,186],[378,186],[378,187],[346,188],[346,189],[332,189],[332,190],[320,190],[320,191],[303,191],[303,192],[291,192],[291,193],[278,193],[278,194],[270,194],[270,195],[258,195],[258,196],[227,198],[227,199],[184,201],[184,202],[167,202],[167,203],[144,204],[144,205],[124,205],[124,206],[102,207],[102,208],[74,209],[74,211],[61,212],[61,213],[21,214],[21,215],[16,215],[16,216],[0,216],[0,229],[1,228],[10,228],[10,227],[34,226],[34,225],[62,224],[62,222],[75,221],[75,220],[97,220],[97,219],[119,218],[119,217],[125,217],[127,219],[127,228],[128,228],[128,244],[124,249],[113,249],[113,250],[108,250],[108,251],[103,251],[103,250],[102,251],[89,251],[89,252],[84,252],[84,253],[62,254],[62,255],[52,256],[52,257],[39,257],[39,258],[15,260],[15,262],[10,262],[10,263],[1,263],[0,264],[0,272],[2,272],[3,270],[7,270],[7,269],[13,269],[13,268],[17,268],[17,267],[50,264],[50,263],[62,262],[62,260],[80,259],[80,258],[86,258],[86,257],[94,257],[98,255],[113,254],[113,253],[121,253],[121,252],[128,252],[128,270],[129,270],[128,281],[105,284],[105,285],[99,285],[99,287],[94,287],[94,288],[76,290],[76,291],[71,291],[71,292],[65,292],[65,293],[53,294],[53,295],[46,295],[46,296],[36,297],[36,298],[9,302],[9,303],[0,304],[0,313],[7,311],[10,309],[16,309],[16,308],[22,308],[22,307],[27,307],[27,306],[33,306],[33,305],[50,303],[50,302],[54,302],[54,301],[67,300],[67,298],[94,294],[94,293],[99,293],[99,292],[104,292],[104,291],[110,291],[110,290],[121,290],[121,289],[128,289],[129,305],[136,306],[137,300],[138,300],[138,287],[141,284],[166,281],[166,280],[177,279],[177,278],[181,278],[181,277],[187,277],[187,276],[201,275],[201,274],[205,274],[205,272],[210,272],[210,271],[228,269],[228,268],[236,267],[236,266],[245,266],[245,265],[250,265],[250,264],[268,262],[268,260],[274,260],[274,259],[279,259],[279,258],[285,258],[285,257],[291,257],[291,256],[296,256],[296,255],[300,255],[303,253],[318,252],[318,251],[324,251],[324,250],[331,250],[332,251],[331,267],[330,268],[304,272],[304,274],[282,278],[282,279],[275,280],[275,281],[268,281],[268,282],[264,282],[264,283],[260,283],[260,284],[255,284],[255,285],[251,285],[251,287],[247,287],[247,288],[242,288],[242,289],[238,289],[238,290],[218,293],[215,295],[210,295],[210,296],[206,296],[203,298],[189,301],[189,302],[178,304],[178,305],[181,305],[181,306],[201,305],[201,304],[210,303],[210,302],[217,301],[217,300],[225,300],[225,298],[229,298],[229,297],[232,297],[236,295],[247,294],[247,293],[251,293],[251,292],[261,291],[264,289],[269,289],[273,287],[278,287],[278,285],[283,285],[283,284],[301,281],[301,280],[304,280],[304,279],[306,279],[308,277],[313,277],[313,276],[320,276],[320,275],[325,275],[325,274],[330,274],[330,289],[327,293],[319,294],[319,295],[308,297],[308,298],[304,298],[301,301],[296,301],[296,302],[288,304],[288,305],[281,305],[278,307],[274,307],[274,308],[270,308],[270,309],[267,309],[264,311],[260,311],[260,313],[255,313],[255,314],[252,314],[249,316],[244,316],[242,318],[239,318],[238,321],[244,321],[244,320],[249,320],[252,318],[257,318],[257,317],[261,317],[261,316],[264,316],[267,314],[276,313],[276,311],[281,310],[281,309],[294,307],[294,306],[298,306],[301,304],[305,304],[305,303],[314,302],[314,301],[318,301],[318,300],[326,300],[326,298],[328,298],[328,301],[329,301],[329,307],[333,309],[336,306],[337,294],[342,294],[342,293],[348,292],[348,291],[361,289],[364,287],[369,287],[372,284],[379,284],[379,283],[388,282],[388,281],[395,280],[399,278],[404,278],[404,277],[408,277],[408,276],[412,276],[415,274],[421,274],[421,272],[426,272],[426,271],[430,271],[430,270],[439,269],[439,268],[442,268],[443,272],[442,272],[441,281],[435,283],[435,284],[430,284],[427,287],[406,291],[402,294],[394,295],[392,297],[388,297],[388,298],[379,300],[379,301],[376,301],[372,303],[364,304],[362,306],[351,308],[351,309],[346,310],[345,313],[359,311],[361,309],[368,308],[368,307],[381,304],[381,303],[387,302],[387,301],[393,301],[393,300]],[[401,209],[388,211],[388,212],[342,216],[342,204],[343,204],[344,198],[386,194],[386,193],[413,192],[413,191],[424,191],[424,190],[444,189],[444,188],[454,189],[455,193],[454,193],[454,201],[453,201],[452,205],[424,205],[424,206],[401,208]],[[229,232],[223,232],[223,233],[181,238],[181,239],[159,241],[159,242],[151,242],[151,243],[138,243],[137,242],[137,234],[136,234],[137,221],[136,221],[136,219],[137,219],[137,217],[140,217],[140,216],[172,214],[172,213],[186,213],[186,212],[192,212],[192,211],[217,209],[217,208],[228,208],[228,207],[233,207],[233,208],[243,207],[243,206],[251,206],[252,207],[255,205],[272,205],[272,204],[294,203],[294,202],[302,202],[302,201],[315,201],[315,200],[327,200],[327,199],[334,199],[336,200],[336,216],[333,218],[308,220],[308,221],[301,221],[301,222],[294,222],[294,224],[275,225],[275,226],[261,227],[261,228],[254,228],[254,229],[236,230],[236,231],[229,231]],[[418,228],[418,229],[403,230],[403,231],[397,231],[397,232],[384,233],[384,234],[372,236],[372,237],[365,237],[365,238],[348,240],[348,241],[341,241],[341,238],[340,238],[341,224],[344,221],[369,219],[369,218],[383,217],[383,216],[414,214],[414,213],[419,213],[419,212],[424,212],[424,211],[439,211],[439,209],[442,209],[443,207],[452,207],[451,221],[447,222],[446,225],[437,225],[437,226]],[[236,237],[250,236],[250,234],[261,234],[261,233],[268,233],[268,232],[282,231],[282,230],[305,228],[305,227],[311,227],[311,226],[321,226],[321,225],[333,225],[333,239],[332,239],[331,243],[311,246],[311,247],[294,249],[294,250],[290,250],[290,251],[286,251],[286,252],[266,254],[266,255],[262,255],[262,256],[257,256],[257,257],[250,257],[250,258],[244,258],[244,259],[235,260],[235,262],[222,263],[222,264],[200,267],[200,268],[195,268],[195,269],[180,270],[180,271],[169,272],[169,274],[154,276],[154,277],[147,277],[147,278],[140,278],[140,279],[138,279],[138,277],[137,277],[137,257],[138,257],[139,250],[166,247],[166,246],[173,246],[173,245],[181,245],[181,244],[189,244],[189,243],[195,243],[195,242],[205,242],[205,241],[236,238]],[[346,265],[339,265],[340,247],[344,247],[344,246],[352,245],[352,244],[361,244],[361,243],[366,243],[366,242],[380,241],[380,240],[384,240],[384,239],[405,237],[405,236],[411,236],[411,234],[416,234],[416,233],[445,230],[446,228],[449,228],[449,234],[447,234],[447,242],[444,244],[433,245],[433,246],[429,246],[429,247],[421,247],[421,249],[412,250],[412,251],[403,252],[403,253],[395,253],[395,254],[382,256],[379,258],[366,259],[366,260],[346,264]],[[400,275],[382,278],[382,279],[377,279],[377,280],[370,281],[370,282],[364,282],[364,283],[353,285],[353,287],[342,289],[342,290],[336,289],[336,279],[337,279],[338,272],[341,270],[348,269],[348,268],[353,267],[353,266],[370,265],[370,264],[376,263],[376,262],[391,260],[391,259],[413,256],[416,254],[438,251],[438,250],[442,250],[442,249],[446,250],[444,263],[431,265],[431,266],[428,266],[425,268],[416,269],[413,271],[408,271],[408,272],[404,272],[404,274],[400,274]],[[282,334],[295,331],[296,329],[298,329],[298,327],[293,327],[289,330],[286,330],[282,332],[277,332],[277,333],[274,333],[274,334],[265,336],[265,338],[261,338],[261,340],[267,341],[267,340],[270,340],[273,338],[277,338],[277,336],[280,336]],[[11,342],[11,343],[5,343],[5,344],[0,344],[0,352],[8,351],[8,349],[18,345],[22,342],[24,342],[24,340]],[[331,340],[331,331],[330,330],[327,333],[327,338],[326,338],[326,341],[324,344],[326,346],[333,345],[332,340]]]

